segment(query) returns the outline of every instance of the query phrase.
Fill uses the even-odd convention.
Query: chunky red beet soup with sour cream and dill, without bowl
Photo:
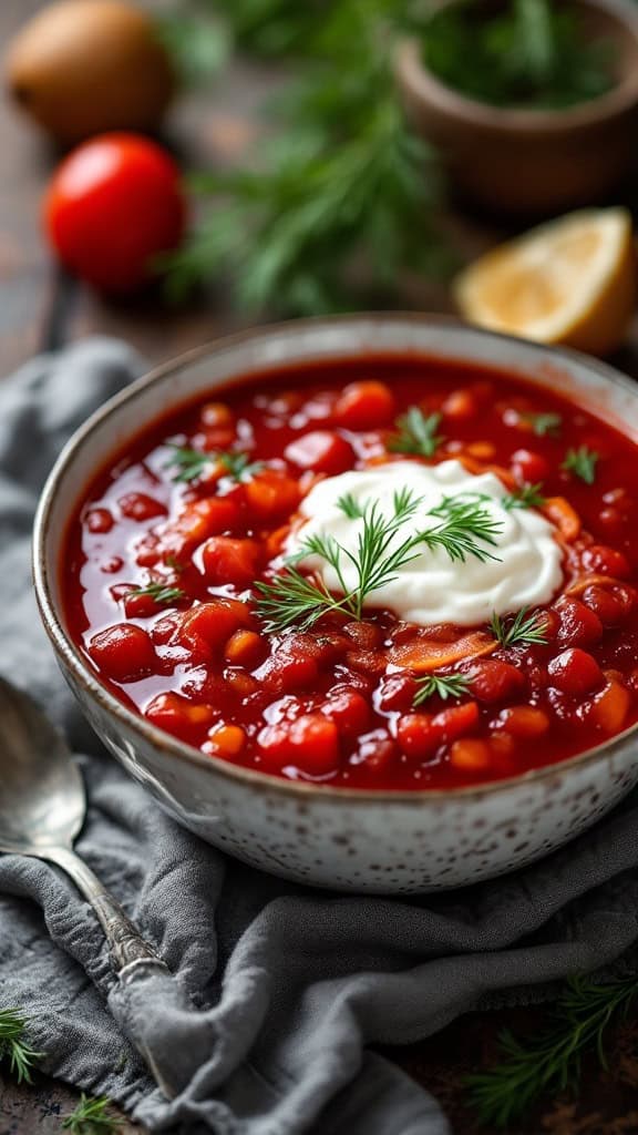
[[[454,789],[638,720],[638,448],[515,375],[414,356],[216,388],[86,487],[70,637],[211,759]]]

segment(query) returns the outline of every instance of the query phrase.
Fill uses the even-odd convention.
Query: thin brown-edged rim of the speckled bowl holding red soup
[[[538,352],[539,356],[546,356],[552,362],[560,362],[561,359],[579,362],[581,365],[586,365],[596,371],[603,379],[605,379],[605,381],[611,382],[614,386],[620,386],[633,397],[638,398],[638,386],[628,376],[622,375],[620,371],[615,370],[615,368],[607,365],[607,363],[602,362],[598,359],[593,359],[591,356],[586,355],[584,352],[574,351],[569,347],[556,347],[549,344],[535,343],[529,339],[521,339],[513,335],[502,335],[496,331],[489,331],[482,328],[473,327],[472,325],[457,319],[455,316],[450,314],[393,311],[356,312],[295,319],[275,323],[258,325],[245,330],[212,339],[201,346],[191,347],[188,351],[182,352],[174,359],[169,359],[166,362],[151,368],[151,370],[134,379],[116,395],[102,403],[102,405],[100,405],[67,440],[52,469],[50,470],[49,476],[47,477],[33,523],[32,572],[40,617],[57,654],[64,661],[65,665],[72,672],[78,684],[86,693],[100,704],[103,711],[114,716],[116,721],[120,722],[125,729],[131,730],[134,734],[141,735],[142,740],[146,741],[151,746],[163,750],[181,762],[195,765],[199,768],[205,768],[208,772],[220,775],[223,779],[240,782],[253,789],[261,788],[267,791],[270,790],[283,793],[284,796],[296,797],[300,800],[303,800],[304,798],[308,799],[308,797],[318,797],[325,801],[341,801],[342,804],[349,805],[358,802],[361,805],[370,805],[372,802],[384,804],[387,801],[392,805],[412,807],[426,807],[428,804],[433,802],[440,805],[456,800],[478,801],[488,796],[493,796],[494,793],[507,792],[513,788],[531,787],[543,782],[561,780],[574,768],[580,768],[608,757],[615,748],[622,746],[623,742],[629,740],[632,735],[638,734],[638,722],[630,725],[621,733],[616,733],[614,737],[602,741],[593,748],[585,749],[582,753],[568,757],[565,760],[561,760],[552,765],[544,765],[540,768],[532,768],[514,776],[504,777],[503,780],[487,781],[482,784],[469,784],[450,789],[422,788],[379,790],[338,787],[317,781],[287,780],[271,773],[247,768],[242,765],[235,765],[228,760],[224,760],[223,758],[204,755],[200,749],[195,749],[194,747],[179,741],[177,738],[171,737],[170,733],[166,733],[163,730],[152,725],[141,714],[134,713],[124,703],[119,701],[115,695],[112,695],[108,688],[102,684],[95,672],[89,666],[89,663],[81,649],[67,634],[62,624],[61,613],[58,615],[57,604],[52,597],[49,575],[47,572],[47,546],[50,532],[51,510],[58,493],[59,481],[67,473],[69,468],[73,466],[76,452],[90,440],[92,435],[102,427],[111,414],[126,403],[135,402],[136,398],[143,395],[150,386],[153,386],[156,382],[179,372],[184,369],[184,367],[207,359],[211,355],[233,350],[236,346],[242,346],[244,343],[259,340],[260,338],[271,338],[291,333],[295,336],[299,334],[303,337],[303,334],[311,329],[321,329],[322,327],[328,329],[335,325],[356,326],[358,323],[369,323],[370,321],[383,323],[392,322],[398,325],[421,323],[433,327],[453,327],[461,334],[464,331],[471,331],[472,335],[481,338],[500,339],[513,345],[514,347],[522,343],[526,348],[532,347]],[[379,352],[380,355],[384,353],[387,353],[388,355],[393,354],[395,356],[397,354],[396,351]],[[425,352],[421,352],[421,354],[425,354]],[[333,356],[333,360],[337,361],[339,355],[337,354]],[[349,356],[344,354],[342,358]],[[294,362],[285,363],[284,368],[286,365],[291,365],[292,368],[294,367]],[[274,368],[270,364],[263,368],[263,372],[267,373],[274,369],[277,368]],[[259,369],[255,369],[255,377],[258,377],[259,373]],[[521,378],[524,378],[524,375],[521,373]],[[174,410],[177,410],[179,405],[184,405],[187,402],[187,396],[183,397],[175,404],[175,406],[168,407],[167,413],[171,413]],[[133,436],[134,434],[132,434],[132,437]],[[77,496],[70,499],[70,504],[67,510],[67,520],[76,504]]]

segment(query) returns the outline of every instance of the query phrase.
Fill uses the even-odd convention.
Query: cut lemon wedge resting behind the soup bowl
[[[597,355],[622,343],[636,294],[627,209],[548,221],[488,252],[454,281],[470,323]]]

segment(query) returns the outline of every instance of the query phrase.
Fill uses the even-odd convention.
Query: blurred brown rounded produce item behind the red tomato
[[[8,89],[62,145],[106,131],[153,129],[175,76],[152,19],[124,0],[59,0],[9,47]]]

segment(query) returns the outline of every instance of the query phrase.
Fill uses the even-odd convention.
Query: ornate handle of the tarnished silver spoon
[[[65,847],[47,848],[43,858],[56,863],[67,875],[70,875],[78,890],[93,907],[104,931],[114,973],[120,981],[126,982],[133,976],[143,976],[143,969],[159,969],[169,973],[166,962],[144,941],[117,899],[107,891],[98,876],[75,851]]]

